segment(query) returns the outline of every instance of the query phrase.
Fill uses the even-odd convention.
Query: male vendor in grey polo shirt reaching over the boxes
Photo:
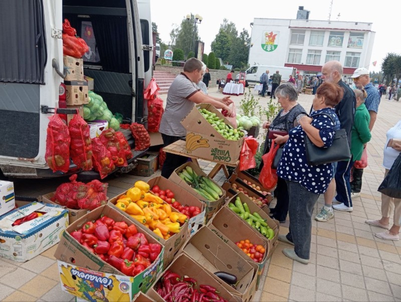
[[[167,93],[166,109],[160,122],[159,132],[162,134],[164,147],[185,138],[186,130],[180,121],[193,109],[195,104],[209,103],[217,109],[225,109],[231,115],[233,103],[229,96],[223,98],[210,97],[200,92],[195,83],[203,77],[203,63],[197,58],[190,58],[184,64],[184,70],[174,79]],[[174,169],[187,161],[187,157],[166,153],[162,168],[162,176],[170,177]]]

